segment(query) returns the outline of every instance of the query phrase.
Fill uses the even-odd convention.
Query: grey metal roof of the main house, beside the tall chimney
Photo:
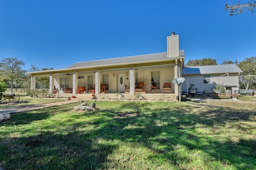
[[[179,57],[184,57],[184,50],[179,51]],[[120,64],[120,63],[132,63],[138,61],[152,61],[158,59],[168,59],[167,52],[164,53],[155,53],[155,54],[147,54],[147,55],[136,55],[131,57],[120,57],[114,59],[104,59],[104,60],[95,60],[95,61],[84,61],[72,64],[67,68],[74,67],[86,67],[86,66],[98,66],[98,65],[107,65],[107,64]]]

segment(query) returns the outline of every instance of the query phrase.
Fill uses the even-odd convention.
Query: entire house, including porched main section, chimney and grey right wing
[[[233,90],[239,89],[238,75],[242,70],[236,64],[184,67],[184,59],[184,50],[179,49],[179,35],[172,32],[167,37],[167,52],[164,53],[85,61],[67,68],[27,74],[31,75],[31,89],[36,89],[36,77],[44,76],[49,77],[50,93],[58,89],[57,97],[72,95],[84,99],[90,96],[89,92],[95,93],[97,98],[101,92],[107,96],[112,94],[110,98],[114,98],[118,92],[126,92],[126,98],[130,99],[134,98],[134,93],[144,92],[148,100],[168,98],[176,101],[179,91],[188,94],[189,84],[195,84],[202,93],[220,83]],[[184,77],[186,80],[180,87],[173,84],[174,77]],[[144,84],[141,91],[136,89],[138,82]],[[171,94],[162,94],[164,83],[171,83]],[[127,87],[129,90],[125,89]]]

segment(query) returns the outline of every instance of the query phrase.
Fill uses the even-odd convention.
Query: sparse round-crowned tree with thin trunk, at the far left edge
[[[24,61],[18,60],[16,57],[3,58],[0,63],[1,74],[5,80],[11,81],[11,91],[13,89],[13,81],[21,76],[22,67],[25,66]],[[24,70],[23,70],[24,71]]]

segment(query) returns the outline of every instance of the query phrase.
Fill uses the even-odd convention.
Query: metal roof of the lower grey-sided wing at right
[[[193,66],[182,68],[182,74],[213,74],[243,72],[236,64]]]

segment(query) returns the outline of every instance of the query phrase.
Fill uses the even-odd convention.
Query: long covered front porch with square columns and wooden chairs
[[[154,98],[153,96],[162,94],[164,83],[171,83],[172,85],[172,92],[168,94],[178,96],[176,94],[178,86],[172,84],[172,80],[174,77],[180,77],[181,62],[168,60],[123,66],[45,70],[38,74],[33,72],[31,74],[31,89],[36,89],[36,76],[44,76],[49,77],[50,93],[54,94],[58,89],[58,96],[64,97],[76,96],[76,94],[86,96],[86,94],[92,93],[91,89],[93,88],[93,92],[101,96],[102,93],[105,96],[125,93],[127,98],[133,99],[134,94],[142,92],[143,94],[152,93],[150,95],[152,97],[148,98]],[[42,74],[42,72],[45,73]],[[144,84],[144,88],[138,90],[138,85],[141,82]],[[105,85],[104,92],[101,89],[102,84]]]

